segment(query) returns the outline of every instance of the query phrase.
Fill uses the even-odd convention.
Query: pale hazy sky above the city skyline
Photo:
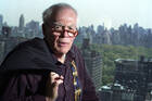
[[[43,10],[58,2],[69,3],[78,11],[79,26],[104,23],[107,28],[117,28],[124,23],[138,23],[152,28],[152,0],[0,0],[0,14],[11,26],[18,25],[21,14],[25,23],[41,22]]]

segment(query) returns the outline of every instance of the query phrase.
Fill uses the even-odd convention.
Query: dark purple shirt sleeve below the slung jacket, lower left
[[[40,80],[40,75],[18,73],[11,75],[3,85],[4,90],[1,92],[0,101],[46,101],[39,91]]]

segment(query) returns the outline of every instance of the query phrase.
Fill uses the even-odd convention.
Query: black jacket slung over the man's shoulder
[[[0,70],[50,70],[61,74],[46,41],[39,38],[16,46],[7,55]]]

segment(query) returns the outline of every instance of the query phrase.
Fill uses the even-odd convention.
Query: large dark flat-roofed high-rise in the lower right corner
[[[121,84],[126,91],[134,92],[132,101],[147,101],[150,96],[152,100],[152,60],[117,59],[115,64],[114,83]]]

